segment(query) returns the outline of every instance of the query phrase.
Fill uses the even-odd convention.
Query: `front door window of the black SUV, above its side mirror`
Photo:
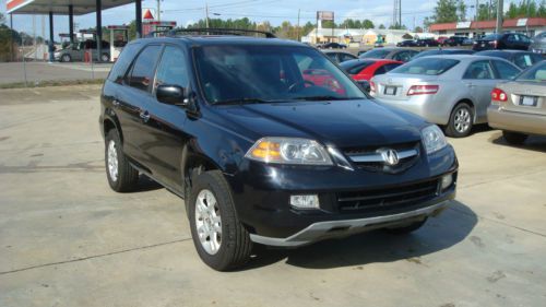
[[[163,51],[162,60],[157,67],[155,86],[161,84],[178,85],[188,87],[188,68],[185,62],[185,54],[180,48],[167,46]]]

